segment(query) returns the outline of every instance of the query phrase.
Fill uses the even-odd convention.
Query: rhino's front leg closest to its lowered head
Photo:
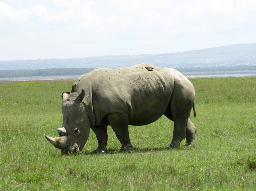
[[[95,133],[99,143],[98,148],[95,151],[92,151],[92,153],[107,152],[107,139],[108,139],[107,126],[92,127],[91,129]]]

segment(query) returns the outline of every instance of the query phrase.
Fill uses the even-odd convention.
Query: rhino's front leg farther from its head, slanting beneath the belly
[[[111,113],[107,116],[108,123],[112,127],[113,131],[116,134],[117,139],[121,142],[122,147],[121,151],[133,150],[129,131],[129,117],[127,114],[123,115],[120,113]]]

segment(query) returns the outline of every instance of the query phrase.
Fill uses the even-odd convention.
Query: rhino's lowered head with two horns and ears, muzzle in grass
[[[77,153],[83,149],[90,133],[90,123],[85,108],[85,91],[63,92],[62,95],[62,128],[58,129],[60,137],[45,138],[61,150],[62,154]]]

